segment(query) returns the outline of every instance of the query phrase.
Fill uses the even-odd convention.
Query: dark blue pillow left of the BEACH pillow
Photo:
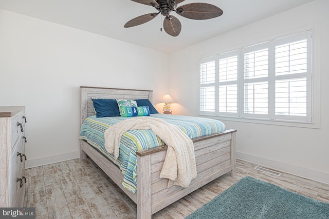
[[[120,116],[116,99],[93,99],[96,117]]]

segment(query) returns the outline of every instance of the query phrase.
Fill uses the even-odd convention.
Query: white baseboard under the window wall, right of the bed
[[[317,170],[307,169],[293,164],[287,164],[275,160],[270,160],[264,157],[259,157],[238,151],[236,151],[236,158],[254,164],[262,165],[271,169],[276,169],[282,172],[308,178],[309,180],[314,180],[317,182],[329,184],[329,173],[319,172]]]

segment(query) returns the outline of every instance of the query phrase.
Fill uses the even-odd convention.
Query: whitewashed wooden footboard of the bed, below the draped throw
[[[188,188],[167,188],[168,179],[159,178],[166,149],[159,148],[159,151],[153,150],[151,153],[150,150],[137,152],[137,218],[151,218],[152,214],[227,172],[234,176],[235,132],[228,130],[193,141],[197,176]]]

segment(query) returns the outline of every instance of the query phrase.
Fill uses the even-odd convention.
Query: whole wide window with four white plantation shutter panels
[[[199,114],[312,123],[312,30],[203,58]]]

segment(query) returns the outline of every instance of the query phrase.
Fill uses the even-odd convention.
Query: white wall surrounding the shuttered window
[[[329,183],[329,1],[317,0],[171,54],[170,94],[176,113],[197,115],[197,59],[319,24],[315,77],[320,79],[320,129],[224,121],[237,129],[237,156]],[[237,17],[237,19],[241,19]],[[215,27],[214,27],[215,28]],[[317,32],[318,33],[318,32]]]

